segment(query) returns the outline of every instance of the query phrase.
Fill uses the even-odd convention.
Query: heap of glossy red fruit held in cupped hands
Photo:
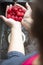
[[[26,12],[25,9],[23,9],[20,6],[15,5],[15,6],[12,6],[12,8],[8,9],[7,18],[12,18],[16,21],[21,22],[24,17],[25,12]]]

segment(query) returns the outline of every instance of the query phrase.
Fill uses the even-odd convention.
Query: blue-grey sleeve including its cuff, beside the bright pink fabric
[[[7,54],[8,59],[4,60],[1,65],[21,65],[27,58],[30,58],[36,53],[24,55],[18,51],[12,51]]]

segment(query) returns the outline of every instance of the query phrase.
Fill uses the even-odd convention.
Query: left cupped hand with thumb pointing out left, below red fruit
[[[10,6],[7,6],[7,8],[6,8],[6,13],[5,13],[5,15],[7,16],[7,11],[8,11],[8,9],[9,8],[11,8],[12,7],[12,5],[10,5]],[[11,18],[6,18],[5,16],[3,16],[3,15],[0,15],[0,18],[2,18],[3,20],[4,20],[4,22],[9,26],[9,27],[13,27],[13,26],[17,26],[18,25],[18,23],[20,23],[20,22],[16,22],[15,20],[13,20],[13,19],[11,19]]]

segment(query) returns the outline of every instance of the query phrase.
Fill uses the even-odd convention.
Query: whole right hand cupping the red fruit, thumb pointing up
[[[23,7],[22,5],[20,5],[20,4],[16,3],[15,5],[18,5],[18,6],[20,6],[23,9],[26,10],[26,13],[23,17],[23,20],[22,20],[21,24],[28,30],[31,26],[32,21],[33,21],[32,18],[31,18],[32,9],[31,9],[30,5],[28,3],[26,3],[27,9],[25,7]]]

